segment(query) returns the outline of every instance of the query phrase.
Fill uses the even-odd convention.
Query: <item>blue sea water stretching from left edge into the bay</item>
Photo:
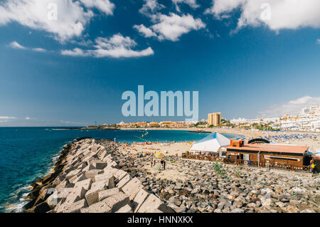
[[[206,133],[183,130],[150,130],[144,139],[181,142],[203,139]],[[62,130],[53,127],[0,127],[0,212],[21,211],[28,186],[53,167],[63,145],[78,137],[144,142],[142,130]],[[226,137],[238,137],[225,134]]]

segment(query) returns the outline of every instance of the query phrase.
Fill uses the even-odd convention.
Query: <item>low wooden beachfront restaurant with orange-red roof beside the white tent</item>
[[[230,142],[226,147],[227,159],[238,164],[266,164],[286,166],[288,168],[309,166],[309,147],[286,144],[243,144]]]

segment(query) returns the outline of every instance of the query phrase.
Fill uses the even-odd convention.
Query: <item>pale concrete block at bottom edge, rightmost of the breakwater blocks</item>
[[[137,213],[154,213],[156,211],[161,211],[164,213],[173,213],[166,204],[162,203],[162,201],[156,197],[154,194],[150,194],[146,201],[140,206]]]

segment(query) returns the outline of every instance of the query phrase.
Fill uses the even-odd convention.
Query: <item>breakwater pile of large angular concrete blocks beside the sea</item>
[[[31,184],[28,213],[174,212],[137,177],[119,169],[117,143],[81,138],[63,147],[51,174]]]

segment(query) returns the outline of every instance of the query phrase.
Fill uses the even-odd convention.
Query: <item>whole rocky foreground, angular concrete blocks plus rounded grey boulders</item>
[[[66,145],[53,173],[31,184],[26,212],[320,211],[319,175],[167,156],[168,169],[181,174],[170,179],[150,169],[152,154],[119,146],[88,138]]]

